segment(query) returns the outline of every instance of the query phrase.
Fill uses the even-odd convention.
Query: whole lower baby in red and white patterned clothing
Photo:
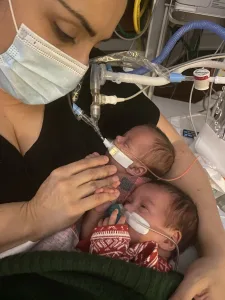
[[[180,252],[194,244],[197,236],[198,214],[192,200],[176,187],[161,181],[150,182],[136,188],[124,202],[126,211],[135,212],[146,220],[152,229],[170,237],[178,244]],[[81,228],[82,240],[78,249],[103,255],[160,272],[172,269],[169,259],[176,252],[175,244],[165,236],[149,231],[143,235],[126,224],[118,211],[100,219],[98,211],[87,213]],[[98,226],[92,226],[98,220]]]

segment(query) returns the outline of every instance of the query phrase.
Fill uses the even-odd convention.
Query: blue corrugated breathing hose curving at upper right
[[[225,40],[225,28],[210,22],[210,21],[194,21],[194,22],[189,22],[182,26],[180,29],[175,32],[175,34],[169,39],[167,42],[166,46],[163,48],[161,54],[156,57],[155,59],[152,60],[153,63],[155,64],[161,64],[170,54],[170,52],[173,50],[175,47],[176,43],[181,39],[181,37],[194,29],[201,29],[201,30],[208,30],[210,32],[215,33],[218,35],[222,40]],[[141,67],[136,70],[133,70],[131,74],[138,74],[138,75],[144,75],[145,73],[149,72],[148,69]]]

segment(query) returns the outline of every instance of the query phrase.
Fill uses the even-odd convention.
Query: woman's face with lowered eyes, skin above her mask
[[[24,23],[84,64],[91,49],[111,37],[126,4],[127,0],[12,0],[18,27]],[[15,35],[8,0],[0,0],[0,53]]]

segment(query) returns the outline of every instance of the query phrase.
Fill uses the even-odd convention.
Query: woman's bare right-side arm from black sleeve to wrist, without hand
[[[168,136],[173,143],[176,159],[168,178],[181,175],[194,161],[195,156],[184,143],[182,137],[161,115],[158,127]],[[174,181],[174,185],[186,192],[195,202],[199,214],[199,241],[205,255],[208,252],[225,248],[224,229],[219,217],[216,200],[212,193],[208,176],[199,162],[181,179]],[[220,236],[221,238],[218,238]]]

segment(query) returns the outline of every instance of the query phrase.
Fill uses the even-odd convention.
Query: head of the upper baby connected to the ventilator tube
[[[163,176],[174,163],[173,145],[159,128],[152,125],[134,127],[124,136],[117,136],[114,144],[134,162],[125,169],[108,154],[110,164],[117,167],[118,173],[151,176],[148,168],[156,175]]]

